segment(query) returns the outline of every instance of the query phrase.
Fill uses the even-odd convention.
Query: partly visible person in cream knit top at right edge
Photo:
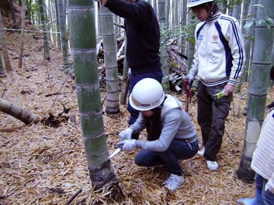
[[[270,77],[274,81],[274,66]],[[268,113],[251,161],[251,168],[255,172],[255,196],[237,200],[238,205],[274,204],[274,101],[266,109]]]

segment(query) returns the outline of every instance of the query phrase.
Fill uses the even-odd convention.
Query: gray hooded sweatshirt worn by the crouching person
[[[137,140],[136,146],[138,148],[164,152],[169,148],[173,139],[186,140],[190,143],[197,140],[197,133],[190,116],[182,110],[182,102],[169,94],[166,94],[166,97],[161,111],[162,131],[160,137],[154,141]],[[138,133],[145,128],[142,124],[141,113],[136,122],[129,128],[132,128],[133,133]]]

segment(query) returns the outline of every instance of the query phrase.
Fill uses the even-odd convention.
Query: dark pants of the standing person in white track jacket
[[[233,94],[214,100],[212,96],[223,90],[226,83],[208,87],[199,81],[198,83],[198,114],[197,120],[201,126],[203,146],[206,152],[203,154],[206,160],[216,161],[225,131],[225,118],[229,114],[230,103]]]

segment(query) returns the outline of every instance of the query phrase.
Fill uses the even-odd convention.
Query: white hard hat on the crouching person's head
[[[134,86],[129,96],[130,105],[138,111],[158,107],[164,101],[162,85],[155,79],[142,79]]]

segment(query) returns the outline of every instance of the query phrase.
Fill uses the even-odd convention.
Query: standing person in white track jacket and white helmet
[[[216,1],[188,0],[187,6],[201,21],[195,28],[195,55],[185,80],[198,77],[197,121],[203,148],[197,154],[208,169],[219,168],[217,154],[225,131],[235,85],[245,65],[245,51],[238,21],[219,12]],[[190,86],[190,85],[188,85]],[[215,99],[223,91],[223,97]]]

